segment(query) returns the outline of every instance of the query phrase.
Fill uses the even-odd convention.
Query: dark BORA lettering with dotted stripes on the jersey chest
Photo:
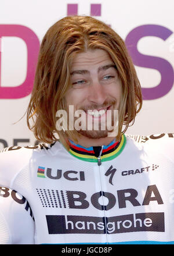
[[[142,201],[138,200],[139,191],[136,189],[122,189],[115,191],[115,194],[99,191],[92,195],[87,195],[82,191],[70,191],[70,190],[51,190],[51,189],[37,189],[38,196],[42,202],[42,207],[55,207],[55,208],[69,208],[69,209],[87,209],[94,207],[101,211],[108,211],[113,207],[126,208],[129,205],[137,207],[140,205],[148,205],[151,201],[155,201],[158,204],[164,204],[160,192],[156,185],[150,185],[146,189],[144,198]],[[140,191],[140,194],[142,191]],[[104,202],[108,202],[107,205],[103,205]],[[89,199],[90,198],[90,199]]]

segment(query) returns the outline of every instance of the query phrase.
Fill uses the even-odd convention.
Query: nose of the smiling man
[[[93,81],[88,90],[88,101],[98,105],[102,105],[106,101],[107,94],[105,88],[99,81]]]

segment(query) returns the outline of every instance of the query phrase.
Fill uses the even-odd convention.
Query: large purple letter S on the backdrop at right
[[[171,64],[165,59],[140,54],[137,51],[137,42],[146,36],[160,37],[165,41],[172,33],[171,30],[159,25],[143,25],[133,29],[125,39],[126,47],[136,66],[157,69],[161,73],[161,82],[158,86],[142,88],[143,99],[157,99],[167,94],[173,86],[174,74]]]

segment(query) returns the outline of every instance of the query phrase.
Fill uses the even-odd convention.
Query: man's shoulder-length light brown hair
[[[34,87],[27,108],[27,125],[37,140],[45,143],[60,140],[67,150],[68,138],[78,143],[77,131],[56,129],[56,112],[67,109],[64,95],[70,88],[74,57],[88,49],[105,50],[117,66],[122,84],[117,140],[131,122],[132,125],[135,122],[135,116],[142,108],[142,93],[124,41],[100,20],[90,16],[67,16],[50,27],[39,50]]]

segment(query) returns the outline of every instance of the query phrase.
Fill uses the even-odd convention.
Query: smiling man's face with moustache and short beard
[[[85,113],[81,125],[86,129],[78,133],[88,138],[107,137],[107,127],[105,130],[101,127],[106,123],[107,111],[119,109],[122,93],[121,81],[110,55],[103,49],[77,54],[70,73],[71,84],[65,95],[67,106],[73,105],[74,112],[81,109]],[[93,129],[89,130],[89,123],[94,122],[99,123],[99,129],[95,130],[93,124]]]

